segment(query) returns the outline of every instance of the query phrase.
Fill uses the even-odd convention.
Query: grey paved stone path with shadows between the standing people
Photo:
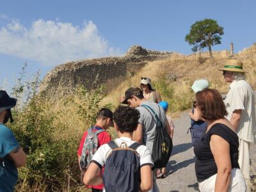
[[[195,176],[195,159],[191,144],[190,119],[188,113],[182,113],[180,118],[174,120],[173,151],[166,171],[168,177],[157,179],[161,192],[187,192],[199,191]],[[251,147],[251,173],[256,177],[256,145]]]

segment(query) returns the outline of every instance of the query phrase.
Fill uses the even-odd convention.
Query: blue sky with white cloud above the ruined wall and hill
[[[10,89],[24,62],[29,78],[65,61],[122,55],[131,45],[190,54],[184,38],[205,18],[224,28],[213,51],[234,42],[238,52],[256,42],[255,0],[1,0],[0,86],[8,79]]]

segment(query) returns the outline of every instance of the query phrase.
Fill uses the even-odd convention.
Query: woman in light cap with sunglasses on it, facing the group
[[[156,103],[161,102],[161,96],[153,88],[151,79],[148,77],[141,77],[140,88],[143,91],[143,96],[146,100],[152,100]]]

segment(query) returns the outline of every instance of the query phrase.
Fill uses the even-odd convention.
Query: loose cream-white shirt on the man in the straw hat
[[[228,112],[228,120],[230,120],[234,110],[242,109],[241,120],[237,127],[239,139],[255,143],[255,96],[250,84],[244,80],[233,81],[224,102]]]

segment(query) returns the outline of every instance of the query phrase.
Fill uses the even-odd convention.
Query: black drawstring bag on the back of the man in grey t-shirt
[[[158,116],[156,112],[152,108],[150,108],[150,106],[144,104],[141,106],[143,106],[147,110],[150,109],[154,114],[153,116],[152,113],[150,113],[150,111],[148,110],[148,112],[150,113],[150,115],[152,115],[152,118],[156,122],[155,138],[152,149],[152,159],[155,168],[163,168],[168,163],[172,153],[172,138],[170,138],[170,136],[164,129],[165,126],[163,125],[159,117],[160,113]]]

